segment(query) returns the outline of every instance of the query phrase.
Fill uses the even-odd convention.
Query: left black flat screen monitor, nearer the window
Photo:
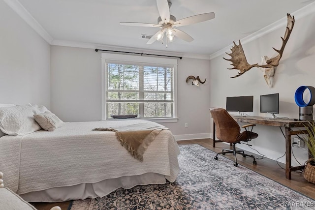
[[[252,112],[253,96],[226,97],[226,111]]]

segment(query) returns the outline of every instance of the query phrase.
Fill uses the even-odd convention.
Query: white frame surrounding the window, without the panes
[[[131,56],[123,54],[101,54],[101,120],[118,120],[118,119],[106,119],[106,60],[117,61],[130,61],[130,62],[142,62],[142,63],[155,63],[155,64],[167,64],[174,66],[174,116],[173,118],[149,118],[143,120],[150,120],[155,122],[177,122],[177,59],[166,59],[156,57],[143,57],[143,56]],[[128,119],[131,120],[131,119]],[[138,119],[139,120],[139,119]],[[142,120],[142,119],[140,119]]]

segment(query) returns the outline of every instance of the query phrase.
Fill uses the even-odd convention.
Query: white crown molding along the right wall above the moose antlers
[[[312,14],[314,12],[315,12],[315,2],[313,2],[311,4],[308,4],[308,5],[302,7],[301,9],[299,9],[299,10],[297,10],[295,12],[292,12],[291,15],[294,16],[295,20],[298,20],[298,19],[301,19],[301,18],[303,18],[303,17],[305,17],[305,16],[307,16],[309,14]],[[272,24],[262,28],[261,30],[257,30],[256,32],[246,36],[243,39],[241,39],[242,45],[244,45],[246,43],[249,43],[249,42],[251,42],[251,41],[253,41],[253,40],[255,40],[255,39],[257,39],[257,38],[259,38],[259,37],[261,37],[261,36],[263,36],[265,34],[267,34],[267,33],[270,33],[270,32],[272,32],[274,30],[277,30],[277,29],[279,29],[281,27],[284,27],[284,26],[286,26],[286,24],[287,24],[287,18],[285,16],[284,18],[282,18],[282,19],[280,19],[280,20],[278,20],[278,21],[276,21],[276,22],[274,22],[274,23],[272,23]],[[211,54],[210,55],[210,60],[225,54],[225,52],[229,52],[230,49],[232,48],[232,46],[233,45],[231,44],[231,45],[229,45],[229,46],[227,46],[227,47],[225,47],[225,48],[223,48],[223,49],[221,49],[221,50]]]

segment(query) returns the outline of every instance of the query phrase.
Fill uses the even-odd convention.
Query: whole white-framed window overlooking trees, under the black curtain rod
[[[176,72],[176,59],[102,53],[102,120],[177,119]]]

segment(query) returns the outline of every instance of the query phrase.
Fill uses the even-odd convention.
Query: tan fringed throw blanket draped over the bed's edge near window
[[[142,162],[143,154],[151,142],[162,130],[168,130],[168,128],[156,122],[148,122],[120,127],[99,127],[93,130],[114,131],[121,145],[125,147],[135,159]]]

